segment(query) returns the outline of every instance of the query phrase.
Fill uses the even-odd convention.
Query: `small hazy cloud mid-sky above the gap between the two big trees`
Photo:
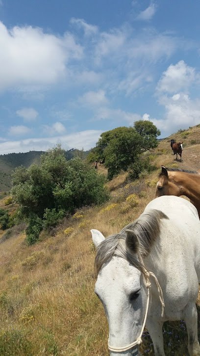
[[[88,91],[78,99],[78,102],[85,107],[96,107],[108,104],[104,90],[99,90],[97,92]]]

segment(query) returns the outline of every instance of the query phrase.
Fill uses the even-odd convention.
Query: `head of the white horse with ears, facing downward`
[[[107,262],[100,268],[95,293],[103,304],[109,324],[110,355],[138,355],[138,345],[123,351],[123,348],[126,349],[139,337],[147,303],[147,288],[143,275],[130,263],[132,261],[128,261],[123,255],[126,243],[132,250],[132,259],[137,263],[136,252],[139,246],[137,237],[130,230],[126,230],[125,239],[118,240],[115,253],[109,258],[109,248],[112,249],[114,239],[113,241],[110,239],[108,244],[102,244],[105,238],[100,231],[91,230],[91,232],[94,245],[97,249],[99,246],[99,251],[101,249],[100,255],[105,257],[106,253],[108,254]],[[130,240],[129,244],[128,240]],[[119,352],[118,348],[121,349]]]

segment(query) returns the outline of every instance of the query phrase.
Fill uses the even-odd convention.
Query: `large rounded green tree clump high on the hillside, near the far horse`
[[[157,146],[160,131],[148,120],[139,120],[134,127],[118,127],[100,135],[100,139],[88,155],[90,162],[105,161],[108,178],[130,165],[139,166],[142,152]]]

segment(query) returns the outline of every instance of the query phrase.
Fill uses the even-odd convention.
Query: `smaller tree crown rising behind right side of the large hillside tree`
[[[143,137],[144,150],[155,148],[158,145],[157,137],[160,130],[149,120],[138,120],[134,123],[134,128]]]

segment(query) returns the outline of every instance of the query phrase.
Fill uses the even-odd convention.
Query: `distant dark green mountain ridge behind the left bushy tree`
[[[79,151],[72,148],[66,151],[66,159],[69,161],[75,156],[86,158],[90,151]],[[29,151],[25,153],[8,153],[0,155],[0,192],[7,192],[11,189],[12,171],[21,165],[29,167],[31,164],[40,164],[40,156],[44,151]]]

